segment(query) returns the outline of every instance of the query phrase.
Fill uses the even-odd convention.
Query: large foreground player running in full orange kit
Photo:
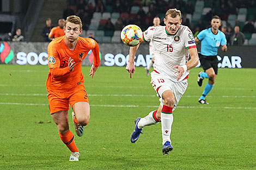
[[[99,46],[93,39],[83,38],[82,22],[72,15],[66,18],[65,36],[58,37],[48,45],[48,66],[50,71],[46,80],[48,103],[53,121],[57,124],[60,139],[71,151],[70,161],[78,161],[79,152],[74,142],[74,135],[69,130],[69,104],[74,112],[72,118],[76,134],[83,135],[83,126],[90,118],[88,96],[83,84],[81,63],[92,49],[93,65],[90,69],[92,78],[100,65]]]

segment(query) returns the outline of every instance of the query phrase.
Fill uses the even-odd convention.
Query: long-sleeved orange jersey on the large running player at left
[[[87,53],[92,49],[94,54],[93,65],[100,65],[99,46],[93,39],[78,37],[74,51],[70,50],[65,42],[65,36],[58,37],[48,45],[48,66],[50,71],[46,80],[47,91],[63,92],[77,88],[84,89],[81,64]],[[75,67],[69,70],[69,58],[74,59]]]

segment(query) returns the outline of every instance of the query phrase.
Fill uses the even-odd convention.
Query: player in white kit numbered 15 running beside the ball
[[[163,19],[166,26],[148,28],[143,33],[143,40],[152,41],[155,53],[154,71],[151,72],[151,84],[160,97],[158,110],[151,111],[144,118],[137,118],[131,142],[138,140],[142,128],[146,125],[162,124],[162,153],[168,154],[173,146],[170,131],[173,123],[172,111],[187,88],[189,70],[198,64],[196,43],[191,30],[181,25],[181,12],[169,9]],[[138,46],[130,47],[129,63],[126,70],[135,71],[134,58]],[[190,55],[190,60],[188,60]]]

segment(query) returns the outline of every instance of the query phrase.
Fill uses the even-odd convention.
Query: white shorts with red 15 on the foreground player
[[[178,105],[179,100],[182,95],[184,95],[187,89],[187,79],[175,82],[167,78],[165,75],[156,73],[155,71],[151,72],[151,82],[152,86],[154,87],[157,96],[160,97],[159,101],[160,104],[163,106],[163,98],[162,94],[164,91],[170,90],[174,94],[175,103],[173,106],[173,110]]]

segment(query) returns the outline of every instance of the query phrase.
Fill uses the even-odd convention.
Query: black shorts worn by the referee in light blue
[[[203,67],[204,71],[208,70],[209,68],[214,68],[214,72],[217,75],[218,74],[218,60],[217,56],[205,56],[202,54],[199,54],[199,59],[201,66]]]

